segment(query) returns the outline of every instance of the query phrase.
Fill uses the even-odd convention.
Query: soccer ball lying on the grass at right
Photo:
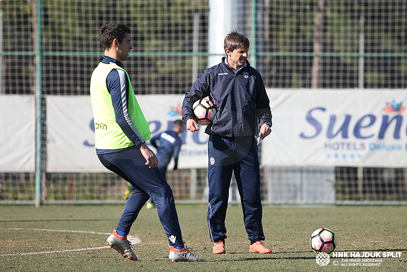
[[[330,229],[319,228],[312,232],[309,245],[316,253],[331,253],[336,248],[336,235]]]

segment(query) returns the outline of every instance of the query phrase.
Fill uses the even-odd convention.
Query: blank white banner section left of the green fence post
[[[34,96],[0,96],[0,172],[35,171],[34,103]]]

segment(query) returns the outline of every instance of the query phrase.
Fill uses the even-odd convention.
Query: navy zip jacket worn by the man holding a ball
[[[224,137],[255,136],[258,124],[271,124],[270,101],[263,78],[246,60],[246,66],[237,74],[222,63],[203,71],[185,95],[182,107],[184,123],[194,119],[192,104],[201,98],[210,97],[217,113],[206,133]],[[258,121],[257,121],[258,120]]]

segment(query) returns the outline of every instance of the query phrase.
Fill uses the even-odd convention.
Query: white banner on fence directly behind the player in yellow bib
[[[181,119],[183,99],[184,95],[137,96],[152,137],[172,129],[172,122]],[[108,172],[96,156],[89,96],[47,96],[47,128],[48,172]],[[184,131],[178,168],[208,166],[208,135],[204,130],[202,128],[197,133]],[[150,148],[156,152],[153,146]],[[173,160],[168,168],[171,169],[172,165]]]

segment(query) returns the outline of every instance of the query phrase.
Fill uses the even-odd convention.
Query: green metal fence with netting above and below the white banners
[[[89,95],[90,74],[102,56],[102,24],[120,21],[132,29],[133,52],[126,67],[136,95],[183,94],[207,68],[211,1],[2,1],[1,93],[36,97],[36,164],[34,196],[9,199],[15,188],[8,180],[18,179],[9,177],[24,175],[33,184],[33,175],[2,173],[0,202],[34,201],[38,206],[47,202],[44,186],[52,176],[69,176],[44,171],[44,97]],[[232,25],[250,38],[249,61],[269,88],[407,86],[403,1],[237,0],[232,5]],[[398,173],[400,201],[405,201],[404,169],[391,170]],[[176,172],[173,178],[182,175]],[[96,182],[100,176],[77,173],[70,178]],[[120,200],[118,194],[115,198]],[[370,200],[383,200],[379,198]],[[352,194],[342,199],[363,200]]]

